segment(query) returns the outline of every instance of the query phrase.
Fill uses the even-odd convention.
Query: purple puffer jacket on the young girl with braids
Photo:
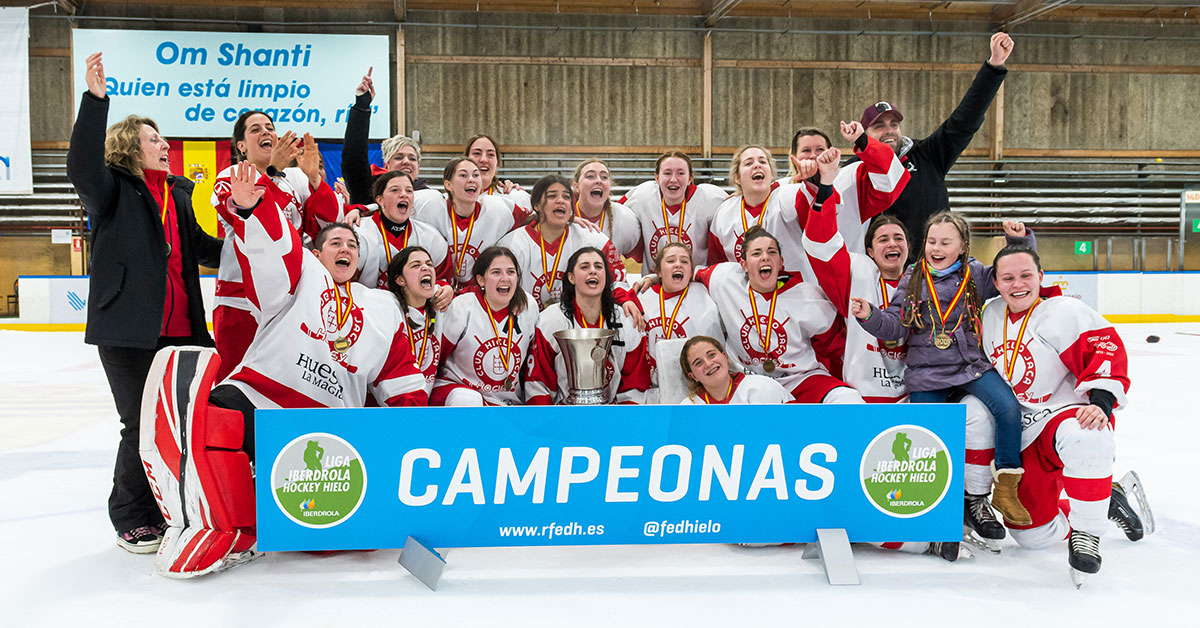
[[[1025,229],[1025,238],[1007,238],[1007,240],[1010,245],[1024,244],[1037,249],[1037,238],[1033,237],[1033,232],[1028,228]],[[1000,294],[996,292],[995,283],[992,283],[992,277],[996,276],[996,273],[991,267],[983,265],[982,262],[973,257],[967,263],[971,265],[971,279],[974,280],[976,288],[979,291],[979,306],[983,307],[983,304],[988,299]],[[900,286],[896,287],[888,309],[880,310],[875,305],[871,305],[871,315],[866,321],[859,321],[858,324],[863,325],[863,329],[880,340],[900,340],[904,337],[905,331],[908,333],[908,358],[905,360],[907,369],[905,369],[904,377],[908,390],[941,390],[983,377],[983,373],[991,369],[991,363],[988,361],[988,358],[984,357],[983,351],[979,348],[979,339],[976,337],[971,318],[964,311],[967,300],[966,294],[959,299],[959,303],[954,306],[954,311],[949,312],[946,317],[946,331],[950,334],[950,339],[953,340],[949,348],[940,349],[934,346],[934,317],[937,313],[929,300],[928,287],[923,288],[923,299],[919,304],[919,316],[924,327],[922,329],[906,329],[900,324],[900,307],[904,306],[905,294],[908,292],[908,280],[912,279],[914,271],[920,271],[919,262],[905,270],[904,276],[900,279]],[[961,269],[944,277],[934,277],[934,287],[937,288],[938,301],[941,301],[943,309],[950,304],[950,299],[958,292],[961,280]],[[959,321],[960,315],[962,316],[962,324],[954,333],[950,333],[950,329],[954,329],[954,324]]]

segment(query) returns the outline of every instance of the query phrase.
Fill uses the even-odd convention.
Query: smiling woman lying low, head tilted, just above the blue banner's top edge
[[[792,403],[792,395],[770,377],[730,372],[725,345],[710,336],[694,336],[683,343],[679,367],[688,379],[684,406],[725,403]]]

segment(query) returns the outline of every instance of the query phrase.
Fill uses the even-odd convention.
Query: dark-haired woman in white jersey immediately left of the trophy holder
[[[512,251],[491,246],[479,253],[472,269],[478,289],[455,297],[442,315],[442,370],[431,406],[521,403],[521,366],[538,307],[520,277]]]

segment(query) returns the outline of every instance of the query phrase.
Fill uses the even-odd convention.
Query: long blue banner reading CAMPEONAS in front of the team
[[[960,405],[264,409],[264,551],[959,540]]]

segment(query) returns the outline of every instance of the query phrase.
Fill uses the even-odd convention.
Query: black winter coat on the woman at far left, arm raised
[[[83,95],[67,151],[67,178],[91,219],[84,342],[152,349],[158,343],[167,298],[167,240],[160,208],[145,180],[125,168],[104,165],[108,103],[107,97]],[[192,181],[184,177],[167,180],[179,226],[184,289],[192,323],[190,342],[211,347],[197,263],[215,268],[221,261],[222,243],[196,223]]]

